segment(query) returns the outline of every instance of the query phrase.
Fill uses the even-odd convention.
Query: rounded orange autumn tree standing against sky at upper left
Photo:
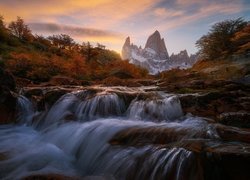
[[[11,33],[14,36],[18,37],[20,40],[32,41],[33,35],[31,33],[31,30],[28,25],[24,23],[24,20],[22,18],[17,17],[17,20],[12,21],[8,27]]]

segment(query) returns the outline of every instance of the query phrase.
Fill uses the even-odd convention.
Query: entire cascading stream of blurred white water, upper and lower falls
[[[36,113],[20,96],[18,119],[28,126],[0,126],[0,179],[204,179],[194,143],[219,147],[215,126],[183,116],[177,96],[128,91],[76,91]]]

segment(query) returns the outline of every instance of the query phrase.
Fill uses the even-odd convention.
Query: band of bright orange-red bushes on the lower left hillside
[[[67,57],[56,54],[46,55],[38,52],[13,52],[6,62],[6,67],[15,76],[33,81],[48,81],[56,75],[64,75],[79,80],[103,80],[107,77],[122,79],[142,78],[147,71],[128,61],[114,60],[101,63],[92,60],[86,63],[79,53],[68,53]]]

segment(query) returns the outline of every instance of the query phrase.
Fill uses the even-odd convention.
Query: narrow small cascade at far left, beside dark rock
[[[20,95],[17,99],[17,122],[20,124],[30,125],[35,115],[35,109],[32,102]]]

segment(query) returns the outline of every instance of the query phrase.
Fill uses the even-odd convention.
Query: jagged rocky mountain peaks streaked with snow
[[[161,38],[159,31],[149,36],[144,49],[132,44],[130,37],[127,37],[122,47],[122,58],[148,69],[151,74],[173,68],[185,69],[191,67],[196,59],[189,57],[186,50],[169,57],[165,41]]]

